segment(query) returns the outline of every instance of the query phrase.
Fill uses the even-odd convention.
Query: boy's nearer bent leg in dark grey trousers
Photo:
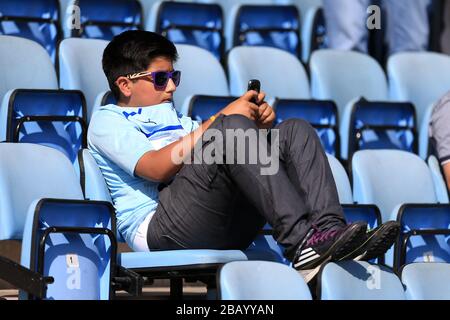
[[[258,132],[253,121],[240,115],[220,116],[208,130],[212,129],[222,133],[223,146],[230,144],[227,130]],[[203,147],[209,143],[221,144],[207,141]],[[267,151],[267,141],[258,139],[258,144]],[[282,166],[274,174],[262,175],[263,165],[259,159],[250,164],[249,144],[245,146],[245,164],[237,163],[234,150],[232,164],[183,166],[170,186],[160,192],[159,206],[149,226],[150,249],[171,249],[170,243],[174,248],[244,249],[265,221],[273,227],[277,242],[291,251],[298,246],[311,228],[311,208]],[[277,154],[271,157],[278,160]],[[242,197],[256,212],[236,210]]]

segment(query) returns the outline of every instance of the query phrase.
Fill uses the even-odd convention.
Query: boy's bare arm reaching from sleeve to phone
[[[251,103],[250,100],[256,95],[255,91],[248,91],[242,97],[233,101],[219,113],[216,114],[241,114],[247,118],[256,121],[258,118],[258,105]],[[258,96],[258,100],[262,102],[264,94]],[[135,168],[135,175],[152,181],[168,181],[181,169],[183,163],[179,161],[190,155],[195,143],[202,136],[203,132],[211,125],[212,120],[204,122],[196,130],[184,136],[178,141],[172,142],[156,151],[146,152],[138,161]],[[179,156],[174,159],[173,155]],[[180,163],[181,162],[181,163]]]

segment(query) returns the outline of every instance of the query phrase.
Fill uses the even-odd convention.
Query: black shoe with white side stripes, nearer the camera
[[[367,224],[352,223],[339,229],[315,229],[300,244],[292,266],[298,270],[312,270],[328,261],[339,261],[359,248],[366,240]]]

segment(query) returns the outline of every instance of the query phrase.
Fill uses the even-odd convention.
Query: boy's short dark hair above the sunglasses
[[[114,84],[120,76],[145,71],[153,59],[178,59],[175,45],[165,37],[150,31],[131,30],[115,36],[103,52],[103,72],[114,97],[120,98],[120,89]]]

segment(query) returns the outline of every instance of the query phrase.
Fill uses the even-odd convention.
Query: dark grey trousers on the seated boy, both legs
[[[241,115],[221,115],[208,130],[212,128],[221,130],[224,140],[227,129],[257,130]],[[245,249],[267,221],[292,258],[312,225],[344,225],[336,185],[314,128],[288,120],[275,129],[280,166],[273,175],[262,175],[259,161],[185,164],[159,193],[147,234],[150,250]],[[200,143],[205,147],[219,142]]]

